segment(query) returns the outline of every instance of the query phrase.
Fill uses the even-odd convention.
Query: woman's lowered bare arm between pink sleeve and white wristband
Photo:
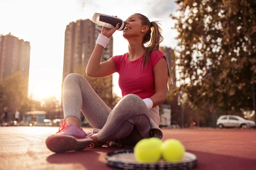
[[[156,93],[150,97],[153,108],[166,100],[168,68],[165,57],[161,58],[154,67],[154,82]]]

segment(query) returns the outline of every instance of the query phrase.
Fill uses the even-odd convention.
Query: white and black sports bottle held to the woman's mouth
[[[116,24],[120,23],[117,30],[122,31],[125,28],[125,22],[120,18],[99,13],[93,14],[93,23],[96,23],[99,26],[104,26],[106,28],[115,28]]]

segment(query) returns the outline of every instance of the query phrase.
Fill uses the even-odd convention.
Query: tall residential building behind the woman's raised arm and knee
[[[76,22],[71,22],[67,26],[65,31],[62,82],[70,73],[85,74],[85,68],[96,45],[96,40],[101,33],[101,29],[101,26],[98,26],[91,20],[77,20]],[[101,62],[107,61],[112,56],[113,38],[110,37],[108,45],[103,50]],[[111,91],[111,93],[107,94],[107,96],[112,96],[112,76],[111,84],[106,85],[105,88],[110,88],[109,91]],[[100,94],[98,95],[102,99],[105,97]]]

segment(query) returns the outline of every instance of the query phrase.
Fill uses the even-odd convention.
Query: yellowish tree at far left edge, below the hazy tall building
[[[6,77],[0,85],[0,109],[9,108],[12,117],[16,109],[20,109],[27,100],[27,79],[23,74],[17,72],[12,76]],[[12,118],[11,118],[12,119]]]

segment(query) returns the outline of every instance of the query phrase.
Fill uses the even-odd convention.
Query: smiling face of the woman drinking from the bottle
[[[123,29],[123,37],[136,37],[142,34],[143,26],[139,15],[134,14],[125,21],[125,29]]]

